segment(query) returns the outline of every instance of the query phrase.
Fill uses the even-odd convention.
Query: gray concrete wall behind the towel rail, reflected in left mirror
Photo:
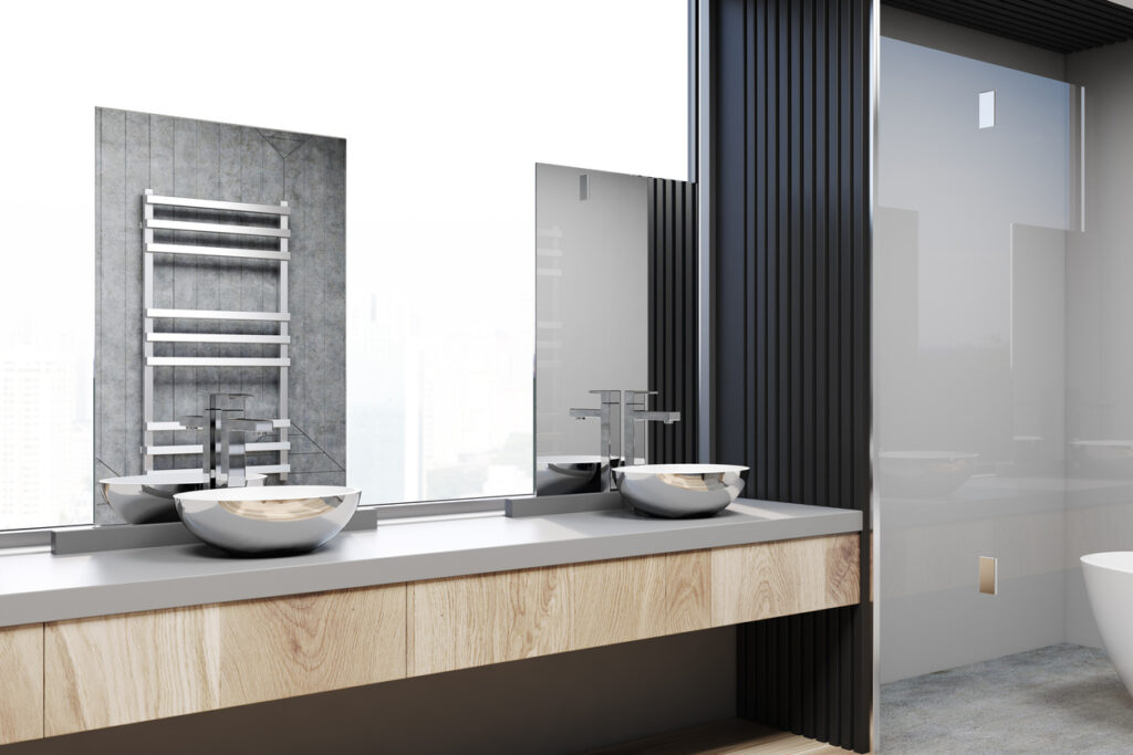
[[[287,413],[290,426],[249,437],[286,440],[288,482],[346,481],[346,139],[143,112],[95,109],[95,428],[94,479],[140,474],[146,342],[144,196],[280,206],[287,203]],[[202,207],[155,206],[157,220],[280,228],[280,216]],[[176,224],[176,223],[174,223]],[[278,251],[279,238],[153,230],[159,244]],[[231,312],[280,310],[279,258],[153,254],[155,309]],[[157,318],[160,333],[280,335],[279,320]],[[157,358],[272,360],[280,343],[165,341]],[[164,361],[164,360],[163,360]],[[153,367],[153,420],[199,414],[210,393],[250,394],[247,415],[280,417],[278,366],[247,362]],[[151,451],[194,446],[195,431],[152,434]],[[176,448],[174,448],[176,451]],[[151,455],[154,470],[201,469],[199,453]],[[248,456],[272,466],[279,449]],[[276,474],[269,482],[278,480]],[[95,522],[120,520],[95,486]]]

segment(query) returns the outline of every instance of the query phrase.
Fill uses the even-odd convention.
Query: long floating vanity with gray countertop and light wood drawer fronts
[[[320,551],[5,557],[0,743],[859,602],[861,514],[458,515]]]

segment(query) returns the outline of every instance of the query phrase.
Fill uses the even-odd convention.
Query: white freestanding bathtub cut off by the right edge
[[[1133,695],[1133,551],[1083,556],[1082,575],[1106,652]]]

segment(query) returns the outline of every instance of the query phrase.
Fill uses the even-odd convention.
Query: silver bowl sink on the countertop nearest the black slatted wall
[[[622,498],[633,508],[671,518],[710,516],[740,497],[742,472],[734,464],[639,464],[614,470]]]

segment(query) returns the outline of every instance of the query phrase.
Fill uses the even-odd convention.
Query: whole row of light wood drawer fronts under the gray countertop
[[[0,744],[849,606],[859,537],[0,628]]]

